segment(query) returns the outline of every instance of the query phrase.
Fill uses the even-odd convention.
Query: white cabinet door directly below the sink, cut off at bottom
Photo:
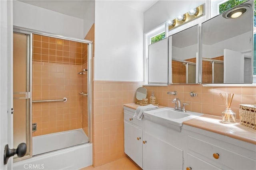
[[[143,133],[143,169],[182,170],[183,150]]]

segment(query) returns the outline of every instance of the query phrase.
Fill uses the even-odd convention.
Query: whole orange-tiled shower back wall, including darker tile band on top
[[[38,128],[33,136],[82,128],[83,100],[78,93],[84,77],[77,73],[84,67],[82,57],[87,57],[86,46],[33,35],[32,100],[68,99],[32,104],[32,123],[37,123]]]

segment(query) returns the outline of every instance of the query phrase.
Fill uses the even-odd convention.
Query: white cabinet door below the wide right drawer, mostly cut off
[[[191,170],[219,170],[220,168],[197,158],[196,156],[188,153],[187,154],[187,161],[186,161],[186,168]]]

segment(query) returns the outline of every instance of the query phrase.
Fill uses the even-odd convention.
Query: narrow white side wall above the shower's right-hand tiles
[[[88,8],[86,9],[83,19],[84,19],[84,37],[87,35],[88,31],[92,27],[95,19],[95,1],[90,0],[88,3]]]

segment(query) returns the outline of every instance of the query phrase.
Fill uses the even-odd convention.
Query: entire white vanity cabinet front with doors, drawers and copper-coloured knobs
[[[146,113],[139,121],[134,113],[124,107],[124,150],[144,170],[256,169],[255,144],[185,124],[176,129]]]

